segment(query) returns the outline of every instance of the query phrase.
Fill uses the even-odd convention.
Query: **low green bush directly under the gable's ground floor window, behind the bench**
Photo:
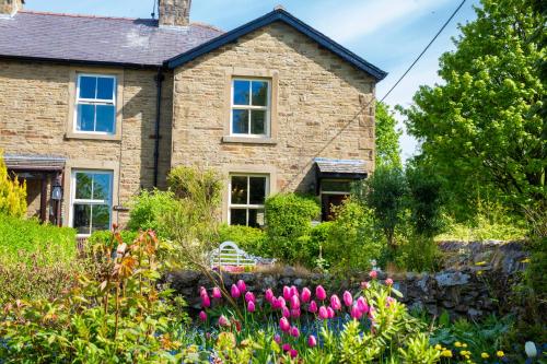
[[[219,228],[219,240],[234,242],[240,248],[255,256],[271,256],[266,245],[266,233],[260,228],[222,224]]]

